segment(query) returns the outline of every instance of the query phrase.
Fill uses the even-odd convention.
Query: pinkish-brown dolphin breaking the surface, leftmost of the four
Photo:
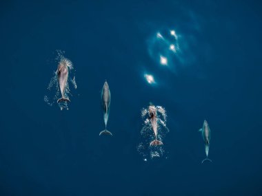
[[[69,98],[65,97],[65,90],[66,90],[66,85],[68,84],[68,65],[66,61],[61,61],[58,65],[57,68],[57,76],[59,80],[59,87],[61,91],[62,97],[57,100],[57,102],[61,101],[68,101],[70,102]]]

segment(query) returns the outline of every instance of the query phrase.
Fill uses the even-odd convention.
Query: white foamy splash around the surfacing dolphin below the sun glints
[[[154,106],[152,106],[154,107]],[[157,120],[157,140],[163,141],[166,133],[169,132],[166,127],[167,115],[165,109],[161,106],[154,107]],[[141,142],[137,146],[138,153],[143,157],[143,160],[152,160],[156,157],[165,156],[166,152],[164,145],[150,145],[150,142],[156,139],[154,135],[152,122],[150,120],[150,111],[148,108],[141,109],[141,117],[143,119],[143,128],[141,129]]]

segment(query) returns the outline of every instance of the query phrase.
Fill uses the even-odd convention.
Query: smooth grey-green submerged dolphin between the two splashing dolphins
[[[105,81],[105,84],[103,85],[102,94],[102,107],[103,107],[103,121],[105,122],[105,130],[101,131],[99,135],[112,135],[110,131],[106,129],[106,125],[108,124],[108,115],[109,115],[109,109],[110,109],[110,90],[108,87],[108,83]]]

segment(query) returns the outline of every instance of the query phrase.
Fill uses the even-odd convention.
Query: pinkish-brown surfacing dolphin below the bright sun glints
[[[150,106],[148,107],[148,115],[155,136],[155,139],[152,142],[150,142],[150,146],[163,145],[163,143],[160,140],[157,140],[157,108],[154,107],[154,105],[152,105],[151,103]]]

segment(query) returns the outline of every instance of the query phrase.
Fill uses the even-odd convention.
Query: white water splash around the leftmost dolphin
[[[74,66],[72,62],[64,56],[65,52],[62,52],[61,50],[57,50],[57,56],[55,58],[55,63],[56,65],[59,65],[60,63],[63,63],[68,67],[68,82],[66,83],[66,88],[65,88],[65,97],[72,97],[72,93],[70,91],[70,86],[74,89],[77,89],[77,83],[75,79],[75,72],[74,72]],[[51,107],[54,105],[54,103],[57,103],[57,100],[61,98],[61,92],[59,89],[59,80],[58,80],[58,75],[57,75],[57,70],[53,72],[53,76],[50,79],[50,83],[48,84],[48,92],[44,96],[44,101],[50,105]],[[63,109],[68,109],[68,102],[59,102],[57,103],[59,108],[61,110]]]

